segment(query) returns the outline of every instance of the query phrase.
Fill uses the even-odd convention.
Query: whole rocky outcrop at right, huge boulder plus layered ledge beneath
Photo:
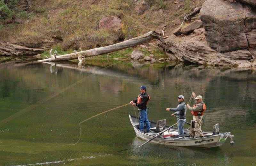
[[[254,2],[254,1],[253,1]],[[249,3],[247,3],[249,4]],[[161,44],[170,57],[215,66],[256,66],[256,11],[240,2],[207,0],[199,13],[204,27],[174,31]],[[187,28],[186,29],[189,29]],[[179,32],[179,33],[177,33]],[[182,34],[182,36],[179,36]]]

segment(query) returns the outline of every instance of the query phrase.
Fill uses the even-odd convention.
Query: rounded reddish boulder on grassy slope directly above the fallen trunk
[[[121,19],[114,16],[105,16],[100,20],[99,28],[118,31],[121,29]]]

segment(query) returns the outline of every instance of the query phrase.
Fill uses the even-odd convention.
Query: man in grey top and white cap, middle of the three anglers
[[[186,108],[186,104],[184,102],[183,95],[178,96],[178,102],[179,102],[179,105],[176,108],[166,108],[166,111],[170,111],[170,110],[175,111],[172,114],[172,116],[173,117],[177,116],[179,135],[183,135],[184,134],[183,127],[186,122],[186,112],[187,112],[187,108]]]

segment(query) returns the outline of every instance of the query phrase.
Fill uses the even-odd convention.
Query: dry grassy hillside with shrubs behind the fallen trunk
[[[52,47],[60,50],[79,47],[85,50],[130,39],[163,26],[167,27],[168,35],[204,0],[146,0],[150,8],[142,15],[135,12],[135,0],[30,0],[29,11],[24,10],[27,4],[24,0],[4,2],[0,0],[1,41],[30,47],[52,42]],[[99,29],[100,19],[107,15],[122,16],[121,30]],[[6,24],[10,18],[21,19],[22,23]]]

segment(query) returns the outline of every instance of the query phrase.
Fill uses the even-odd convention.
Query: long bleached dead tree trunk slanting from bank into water
[[[39,61],[69,61],[69,60],[77,59],[78,56],[93,57],[93,56],[97,56],[97,55],[102,55],[102,54],[107,54],[110,52],[118,51],[121,49],[126,49],[126,48],[129,48],[132,46],[140,45],[142,43],[146,43],[153,39],[158,39],[161,42],[164,42],[163,37],[161,36],[161,31],[160,32],[150,31],[147,34],[144,34],[142,36],[135,37],[130,40],[126,40],[126,41],[116,43],[113,45],[95,48],[95,49],[89,49],[86,51],[80,51],[80,52],[71,53],[71,54],[60,55],[60,56],[57,56],[56,58],[51,57],[51,58],[42,59]]]

